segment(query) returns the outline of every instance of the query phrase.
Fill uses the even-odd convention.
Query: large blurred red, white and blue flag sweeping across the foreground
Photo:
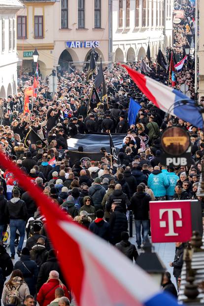
[[[1,152],[0,164],[14,173],[45,216],[61,271],[78,306],[178,306],[173,297],[160,291],[151,276],[53,205]]]

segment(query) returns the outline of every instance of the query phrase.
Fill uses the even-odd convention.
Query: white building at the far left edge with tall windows
[[[20,0],[0,0],[0,98],[17,92],[16,13]]]

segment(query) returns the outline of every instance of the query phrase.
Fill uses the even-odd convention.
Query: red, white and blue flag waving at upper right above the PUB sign
[[[126,65],[121,66],[126,68],[141,92],[155,106],[203,129],[202,114],[193,100],[183,95],[180,91],[157,82]]]

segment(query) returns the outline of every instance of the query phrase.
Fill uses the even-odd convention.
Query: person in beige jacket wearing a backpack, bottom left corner
[[[23,273],[20,270],[13,270],[10,279],[5,283],[2,292],[3,305],[11,303],[11,298],[16,296],[20,299],[21,304],[27,295],[30,295],[29,287],[23,278]]]

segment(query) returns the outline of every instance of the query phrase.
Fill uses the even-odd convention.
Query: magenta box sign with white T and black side
[[[192,232],[203,234],[199,201],[150,202],[152,242],[185,242]]]

